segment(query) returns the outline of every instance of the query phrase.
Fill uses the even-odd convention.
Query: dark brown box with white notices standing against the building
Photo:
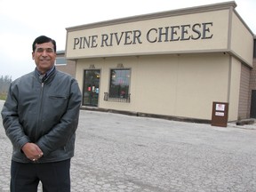
[[[228,124],[228,103],[212,103],[212,126],[227,127]]]

